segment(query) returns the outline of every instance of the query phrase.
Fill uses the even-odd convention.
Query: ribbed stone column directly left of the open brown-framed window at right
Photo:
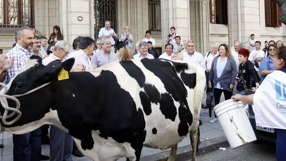
[[[190,39],[195,42],[196,51],[206,53],[210,50],[208,0],[190,0],[190,24]]]

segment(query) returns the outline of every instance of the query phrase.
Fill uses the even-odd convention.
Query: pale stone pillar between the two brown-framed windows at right
[[[229,46],[234,40],[248,41],[250,34],[260,37],[259,0],[228,0]]]

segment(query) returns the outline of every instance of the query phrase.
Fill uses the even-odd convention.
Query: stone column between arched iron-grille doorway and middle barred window
[[[135,43],[144,39],[148,30],[148,0],[118,0],[117,1],[118,38],[124,32],[124,27],[129,26]]]

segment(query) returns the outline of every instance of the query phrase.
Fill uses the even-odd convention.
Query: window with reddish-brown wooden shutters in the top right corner
[[[281,27],[282,23],[278,21],[279,6],[275,1],[264,0],[265,9],[265,26],[266,27]]]

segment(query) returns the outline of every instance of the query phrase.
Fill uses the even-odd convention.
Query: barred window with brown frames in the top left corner
[[[0,0],[0,28],[34,25],[34,0]]]

